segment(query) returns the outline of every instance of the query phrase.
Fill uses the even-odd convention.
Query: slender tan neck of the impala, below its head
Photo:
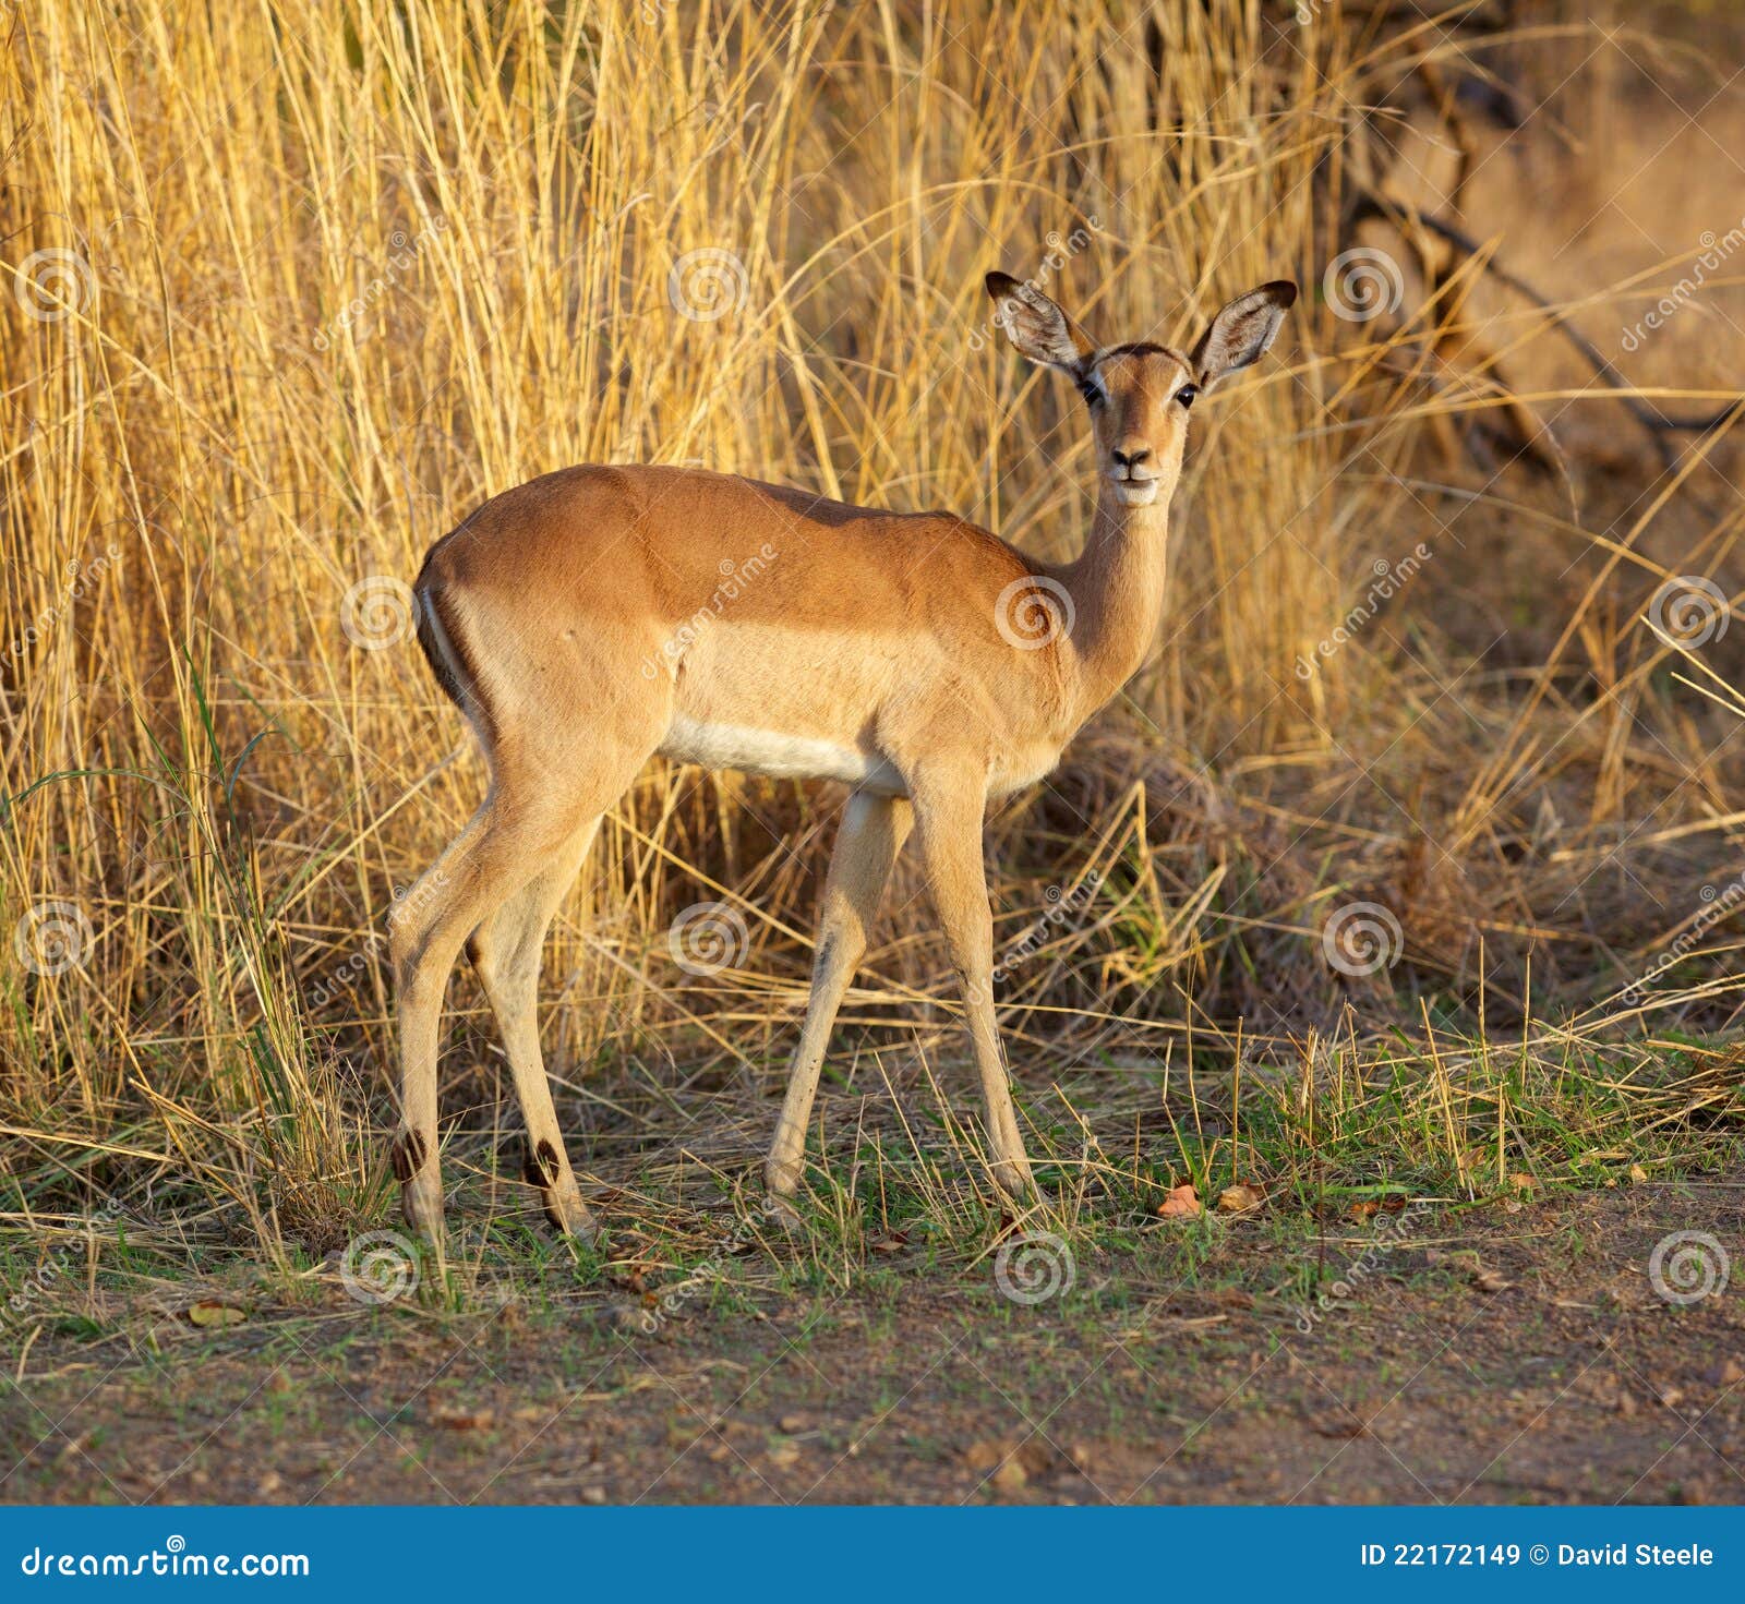
[[[1105,480],[1084,552],[1061,571],[1075,609],[1080,721],[1113,700],[1157,639],[1173,490],[1169,482],[1150,506],[1124,506]]]

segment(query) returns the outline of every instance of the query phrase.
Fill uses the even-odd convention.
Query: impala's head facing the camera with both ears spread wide
[[[1040,290],[989,272],[1007,339],[1031,361],[1059,368],[1085,398],[1098,473],[1122,506],[1167,504],[1181,473],[1194,400],[1227,374],[1260,361],[1297,300],[1286,279],[1237,295],[1187,354],[1150,340],[1098,346]]]

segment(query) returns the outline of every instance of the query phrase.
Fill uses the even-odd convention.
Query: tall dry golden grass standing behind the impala
[[[1077,403],[989,337],[982,272],[1042,278],[1108,339],[1319,283],[1368,98],[1455,56],[1466,9],[9,9],[3,1206],[150,1182],[316,1244],[363,1206],[384,918],[482,782],[379,581],[471,504],[578,461],[701,461],[1064,555],[1089,511]],[[1284,1051],[1347,998],[1354,1051],[1373,1021],[1429,1028],[1426,1004],[1476,1032],[1482,993],[1544,1040],[1677,934],[1630,908],[1644,853],[1701,913],[1736,763],[1639,628],[1666,569],[1632,555],[1684,478],[1597,536],[1560,487],[1426,457],[1427,421],[1494,408],[1483,374],[1424,382],[1482,278],[1386,325],[1310,300],[1283,361],[1206,408],[1153,663],[989,829],[1002,939],[1042,887],[1103,876],[1014,981],[1021,1079],[1239,1021]],[[1518,302],[1487,335],[1555,339]],[[1543,553],[1537,660],[1480,656],[1469,628],[1488,574],[1462,536],[1499,527]],[[1724,560],[1738,518],[1696,532],[1672,572]],[[1420,539],[1410,606],[1300,679]],[[1593,553],[1616,572],[1588,592]],[[838,803],[646,775],[551,943],[548,1049],[585,1121],[635,1105],[658,1131],[698,1073],[773,1091]],[[914,890],[850,1028],[927,1047],[951,1042],[949,993]],[[667,927],[705,897],[752,939],[696,983]],[[1352,899],[1399,918],[1401,967],[1328,969]],[[455,1002],[476,1012],[469,981]],[[459,1033],[450,1110],[497,1103],[487,1042]]]

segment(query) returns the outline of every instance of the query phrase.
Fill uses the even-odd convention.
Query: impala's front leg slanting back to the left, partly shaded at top
[[[787,1098],[764,1164],[764,1182],[778,1197],[790,1197],[799,1185],[806,1122],[818,1093],[824,1049],[831,1042],[831,1026],[848,983],[867,949],[872,916],[890,867],[909,834],[911,817],[904,798],[874,796],[867,791],[857,791],[843,810],[824,895],[818,899],[818,946],[811,960],[806,1023],[789,1065]]]

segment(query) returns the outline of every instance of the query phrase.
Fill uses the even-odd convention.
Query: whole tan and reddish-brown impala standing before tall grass
[[[996,1182],[1023,1196],[991,991],[982,874],[989,798],[1054,768],[1139,665],[1164,604],[1169,497],[1194,398],[1272,344],[1290,283],[1223,307],[1192,353],[1096,346],[1003,272],[1010,342],[1085,398],[1098,499],[1075,562],[1035,562],[949,513],[886,513],[693,468],[571,468],[487,501],[431,546],[419,641],[490,763],[478,813],[391,930],[400,998],[394,1173],[410,1224],[441,1232],[436,1037],[466,944],[527,1121],[527,1180],[588,1230],[534,1000],[539,949],[606,815],[656,752],[853,787],[818,908],[811,1000],[764,1169],[792,1194],[831,1025],[892,862],[920,833],[968,1018]],[[731,606],[721,576],[757,555]],[[698,614],[710,616],[693,627]]]

